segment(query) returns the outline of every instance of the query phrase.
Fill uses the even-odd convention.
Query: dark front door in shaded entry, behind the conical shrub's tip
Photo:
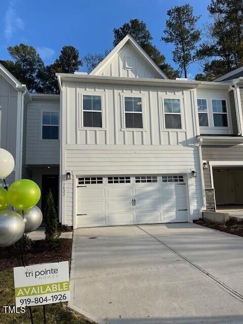
[[[54,198],[54,203],[58,215],[58,191],[59,191],[59,175],[43,175],[42,176],[42,211],[46,206],[48,192],[51,190]]]

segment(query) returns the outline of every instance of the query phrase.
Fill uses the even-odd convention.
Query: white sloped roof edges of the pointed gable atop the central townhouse
[[[164,79],[168,79],[168,76],[154,63],[150,56],[141,48],[137,41],[130,35],[127,34],[113,50],[89,73],[89,75],[95,75],[98,73],[113,57],[119,52],[119,50],[128,43],[136,48],[137,51],[143,56],[143,59],[151,66],[151,68]]]

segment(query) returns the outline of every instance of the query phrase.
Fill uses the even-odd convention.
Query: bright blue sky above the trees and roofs
[[[0,59],[9,59],[7,47],[20,43],[32,45],[46,64],[59,56],[64,45],[79,50],[82,58],[88,52],[112,49],[113,28],[130,19],[143,20],[153,36],[153,44],[172,60],[173,45],[160,41],[165,29],[167,10],[189,3],[195,15],[201,15],[198,26],[204,29],[209,19],[210,0],[1,0]],[[85,71],[86,68],[82,67]],[[193,77],[198,64],[189,68]]]

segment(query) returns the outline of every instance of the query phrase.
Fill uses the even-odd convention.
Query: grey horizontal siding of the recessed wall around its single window
[[[26,165],[59,165],[60,141],[42,139],[42,111],[59,112],[59,99],[33,97],[28,104]]]

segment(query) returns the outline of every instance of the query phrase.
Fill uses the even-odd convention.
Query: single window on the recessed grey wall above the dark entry
[[[58,140],[59,114],[56,111],[43,111],[42,113],[42,139]]]

